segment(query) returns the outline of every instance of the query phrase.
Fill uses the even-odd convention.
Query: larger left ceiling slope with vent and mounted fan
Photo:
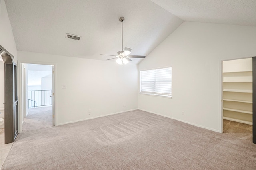
[[[124,47],[148,55],[182,22],[150,0],[5,0],[17,50],[109,59]],[[82,36],[80,41],[66,33]],[[138,63],[141,59],[132,59]]]

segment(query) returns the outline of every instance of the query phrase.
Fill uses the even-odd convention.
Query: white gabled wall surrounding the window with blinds
[[[138,107],[221,132],[221,61],[252,56],[256,27],[184,22],[139,64],[172,66],[172,99],[139,95]]]

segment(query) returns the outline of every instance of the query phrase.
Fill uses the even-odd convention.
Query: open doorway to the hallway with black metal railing
[[[54,66],[22,63],[22,131],[54,126]]]

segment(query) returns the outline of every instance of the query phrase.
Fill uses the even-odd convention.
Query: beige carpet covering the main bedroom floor
[[[18,135],[4,170],[255,170],[256,144],[136,110]]]

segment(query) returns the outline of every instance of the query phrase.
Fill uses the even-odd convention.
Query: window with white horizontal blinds
[[[172,97],[172,67],[140,71],[140,93]]]

